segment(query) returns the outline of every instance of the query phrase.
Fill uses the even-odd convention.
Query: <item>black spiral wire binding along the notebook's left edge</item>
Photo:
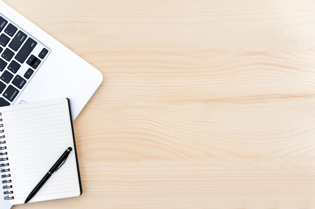
[[[2,113],[0,113],[0,116],[2,116]],[[0,118],[0,122],[2,122],[2,118]],[[3,124],[0,124],[0,127],[3,127],[4,125]],[[4,133],[5,130],[4,129],[0,129],[0,133]],[[9,172],[10,171],[10,168],[3,168],[5,166],[9,166],[9,163],[8,162],[5,162],[7,160],[9,160],[9,158],[6,156],[8,154],[8,152],[6,151],[7,149],[7,146],[4,145],[6,144],[6,141],[5,141],[5,134],[0,134],[0,150],[1,150],[1,153],[0,153],[0,172],[1,173],[4,173],[4,172]],[[11,174],[1,174],[1,178],[6,178],[5,180],[2,180],[2,183],[3,184],[6,184],[6,185],[3,185],[2,188],[5,190],[4,191],[4,194],[13,194],[13,191],[12,191],[12,185],[9,185],[12,180],[11,179],[7,179],[8,177],[11,177]],[[10,191],[9,191],[10,189]],[[14,199],[14,196],[5,196],[5,199]]]

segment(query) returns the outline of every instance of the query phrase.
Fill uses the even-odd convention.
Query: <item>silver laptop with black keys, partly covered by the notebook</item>
[[[66,97],[74,120],[102,80],[100,71],[0,0],[0,106]]]

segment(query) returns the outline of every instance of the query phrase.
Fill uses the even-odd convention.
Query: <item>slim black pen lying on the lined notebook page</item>
[[[31,191],[28,197],[25,200],[25,203],[30,201],[30,199],[38,192],[38,190],[44,185],[44,183],[48,180],[48,178],[52,175],[53,172],[57,171],[67,159],[69,153],[71,152],[72,148],[68,147],[63,154],[59,157],[57,162],[49,169],[46,175],[39,181],[39,183],[35,186],[35,188]]]

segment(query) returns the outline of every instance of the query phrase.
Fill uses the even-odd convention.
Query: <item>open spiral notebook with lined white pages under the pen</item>
[[[0,205],[21,204],[67,147],[65,163],[29,201],[82,194],[69,100],[0,107]]]

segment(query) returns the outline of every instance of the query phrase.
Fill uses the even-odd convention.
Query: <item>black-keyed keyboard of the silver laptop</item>
[[[0,13],[0,106],[15,102],[50,53]]]

